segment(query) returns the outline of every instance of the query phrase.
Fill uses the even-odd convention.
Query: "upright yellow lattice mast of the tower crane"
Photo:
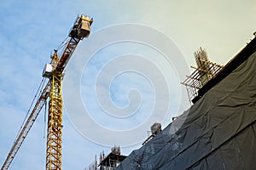
[[[61,73],[54,72],[50,80],[47,129],[46,169],[61,170],[62,97]]]

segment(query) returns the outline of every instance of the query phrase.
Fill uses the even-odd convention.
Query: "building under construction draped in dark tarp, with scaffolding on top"
[[[222,66],[200,48],[183,82],[194,105],[116,169],[256,169],[255,51],[254,37]]]

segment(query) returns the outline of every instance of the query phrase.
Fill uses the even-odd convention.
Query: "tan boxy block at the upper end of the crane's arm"
[[[76,20],[72,30],[69,33],[69,37],[83,39],[84,37],[89,37],[90,35],[90,26],[93,22],[93,19],[89,16],[82,14]]]

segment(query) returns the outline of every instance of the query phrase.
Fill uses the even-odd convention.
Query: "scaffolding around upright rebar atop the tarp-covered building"
[[[198,90],[201,89],[212,78],[216,77],[219,71],[221,71],[224,65],[218,65],[208,60],[207,52],[203,48],[199,48],[194,53],[195,62],[197,67],[190,66],[195,71],[187,76],[186,79],[181,82],[186,86],[189,100],[192,101],[198,95]]]

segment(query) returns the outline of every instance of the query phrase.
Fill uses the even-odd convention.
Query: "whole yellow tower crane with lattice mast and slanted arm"
[[[9,168],[15,155],[20,149],[21,144],[26,138],[27,133],[31,129],[33,122],[38,117],[39,112],[49,99],[48,122],[47,122],[47,146],[46,146],[46,169],[61,170],[61,129],[62,129],[62,96],[61,82],[62,72],[71,58],[73,51],[84,37],[89,37],[90,26],[93,20],[84,14],[80,15],[75,21],[71,31],[69,32],[66,47],[63,49],[61,57],[57,54],[57,50],[51,56],[51,62],[46,64],[43,71],[43,77],[49,78],[49,81],[42,88],[38,100],[35,103],[30,116],[20,128],[20,132],[9,151],[9,155],[3,163],[1,170]],[[43,82],[43,81],[42,81]]]

